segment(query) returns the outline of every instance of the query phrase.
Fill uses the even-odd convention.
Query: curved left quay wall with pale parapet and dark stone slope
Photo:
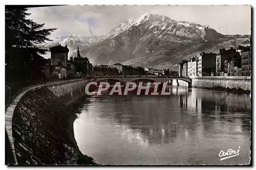
[[[6,132],[14,164],[95,164],[74,137],[72,111],[85,95],[87,80],[69,80],[19,94],[6,112]]]

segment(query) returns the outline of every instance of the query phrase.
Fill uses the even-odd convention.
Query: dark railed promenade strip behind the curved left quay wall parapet
[[[69,80],[51,80],[51,81],[23,81],[16,82],[5,87],[5,109],[9,107],[9,105],[14,101],[14,99],[18,96],[18,94],[26,91],[30,88],[42,85],[51,85],[54,83],[65,83],[72,82],[82,79],[69,79]]]

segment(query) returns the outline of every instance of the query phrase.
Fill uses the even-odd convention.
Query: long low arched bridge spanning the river
[[[179,77],[179,76],[154,76],[154,75],[127,75],[127,76],[94,76],[91,81],[108,81],[117,80],[119,82],[134,82],[136,80],[150,80],[154,82],[168,82],[169,80],[177,80],[177,85],[179,85],[178,80],[182,80],[188,83],[188,87],[191,87],[192,79],[189,77]]]

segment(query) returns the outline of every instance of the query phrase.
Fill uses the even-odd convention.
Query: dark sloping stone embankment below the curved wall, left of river
[[[42,88],[20,101],[12,123],[18,164],[96,164],[93,158],[80,152],[74,137],[73,106],[63,104],[63,99]]]

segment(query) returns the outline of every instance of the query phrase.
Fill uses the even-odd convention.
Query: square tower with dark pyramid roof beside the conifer
[[[51,76],[61,78],[67,77],[67,60],[69,48],[66,46],[50,47],[51,52]]]

